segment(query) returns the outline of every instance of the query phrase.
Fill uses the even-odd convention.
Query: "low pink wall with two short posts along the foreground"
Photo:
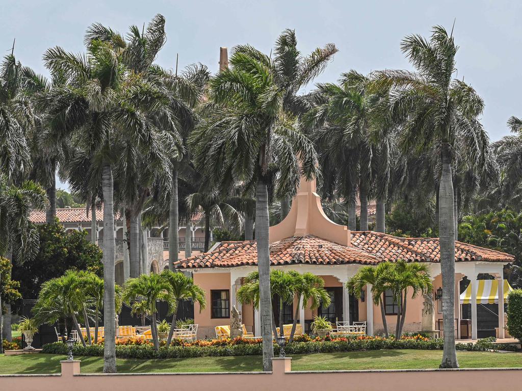
[[[401,391],[512,391],[520,389],[522,383],[521,369],[290,372],[290,358],[274,359],[273,363],[273,372],[81,375],[79,361],[62,361],[62,375],[0,375],[0,388],[39,391],[230,391],[231,388],[382,391],[392,387]]]

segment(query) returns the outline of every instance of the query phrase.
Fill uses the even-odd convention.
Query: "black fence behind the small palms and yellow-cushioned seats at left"
[[[33,314],[31,312],[34,307],[34,303],[36,300],[22,300],[22,315],[27,317],[32,317]],[[164,319],[167,322],[172,321],[172,316],[167,315],[169,312],[169,308],[165,302],[158,301],[156,303],[156,307],[158,309],[157,317],[158,321],[162,321]],[[103,326],[103,313],[100,317],[99,326]],[[179,308],[177,309],[177,319],[194,319],[194,304],[191,300],[182,301],[180,303]],[[94,327],[93,322],[91,322],[90,326]],[[124,305],[122,307],[122,311],[118,314],[118,324],[120,326],[141,326],[145,324],[146,326],[150,325],[150,319],[145,317],[142,319],[141,316],[133,316],[131,315],[131,308]],[[55,329],[56,327],[56,329]],[[43,324],[39,327],[38,334],[34,335],[33,343],[31,344],[35,348],[41,348],[45,344],[49,344],[52,342],[56,342],[56,330],[58,330],[58,325],[50,326],[47,324]],[[25,343],[23,344],[25,347]]]

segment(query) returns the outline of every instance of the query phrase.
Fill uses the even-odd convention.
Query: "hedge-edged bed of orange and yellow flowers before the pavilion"
[[[457,350],[486,351],[494,349],[494,338],[480,340],[477,344],[457,344]],[[421,335],[402,337],[401,339],[379,336],[358,336],[342,338],[311,338],[299,336],[284,350],[288,355],[310,353],[349,352],[379,349],[417,349],[442,350],[442,339],[430,339]],[[43,353],[67,354],[67,346],[55,342],[43,346]],[[103,341],[97,345],[83,347],[76,344],[75,356],[103,356]],[[274,345],[274,353],[279,353],[279,346]],[[212,339],[182,341],[175,340],[174,346],[166,348],[164,342],[159,351],[155,351],[150,341],[137,338],[119,339],[116,344],[116,357],[120,358],[186,358],[205,356],[259,356],[262,354],[260,339]]]

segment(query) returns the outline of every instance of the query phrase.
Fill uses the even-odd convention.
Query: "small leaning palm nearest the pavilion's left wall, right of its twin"
[[[205,291],[194,284],[194,279],[187,277],[181,272],[172,272],[170,270],[164,270],[161,273],[165,282],[170,285],[170,292],[175,300],[174,310],[172,314],[172,323],[170,325],[169,337],[167,339],[167,347],[170,346],[172,336],[174,334],[174,328],[176,327],[176,316],[177,309],[179,308],[182,300],[192,300],[193,303],[199,304],[199,311],[203,311],[206,307]]]

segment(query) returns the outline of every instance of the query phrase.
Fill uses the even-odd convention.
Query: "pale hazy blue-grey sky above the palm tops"
[[[220,46],[230,50],[249,43],[269,53],[280,32],[290,28],[303,54],[329,42],[339,49],[314,82],[335,82],[350,69],[363,74],[411,69],[400,52],[401,40],[408,34],[429,36],[434,25],[449,31],[455,21],[457,77],[483,97],[482,123],[491,140],[509,133],[510,116],[522,116],[518,1],[1,0],[0,55],[10,52],[16,39],[17,59],[47,75],[43,53],[53,46],[84,52],[84,33],[92,23],[125,33],[158,13],[166,19],[167,32],[157,58],[161,66],[174,68],[179,54],[180,69],[199,62],[216,72]]]

